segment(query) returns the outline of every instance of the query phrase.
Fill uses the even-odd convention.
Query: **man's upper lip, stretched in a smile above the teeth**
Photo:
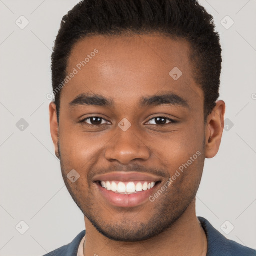
[[[155,176],[149,173],[142,172],[108,172],[105,174],[97,174],[93,177],[93,181],[160,181],[161,178],[159,176]]]

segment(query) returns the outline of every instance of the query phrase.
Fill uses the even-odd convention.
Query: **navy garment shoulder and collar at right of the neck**
[[[227,239],[207,219],[203,217],[197,218],[207,236],[207,256],[256,256],[256,250]]]

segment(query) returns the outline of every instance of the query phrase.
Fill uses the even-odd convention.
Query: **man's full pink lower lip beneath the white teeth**
[[[103,197],[112,205],[128,208],[135,207],[143,204],[146,201],[149,201],[149,197],[151,194],[154,193],[155,187],[158,186],[158,183],[154,185],[154,187],[146,191],[142,190],[141,192],[137,192],[134,194],[119,194],[111,190],[107,190],[106,188],[102,187],[98,182],[96,183],[96,185]]]

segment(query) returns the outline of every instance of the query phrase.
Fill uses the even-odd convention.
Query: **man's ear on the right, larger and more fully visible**
[[[208,115],[205,126],[205,158],[214,157],[219,149],[224,129],[225,102],[218,100]]]

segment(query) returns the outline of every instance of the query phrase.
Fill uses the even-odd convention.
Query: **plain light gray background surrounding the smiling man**
[[[0,0],[0,255],[42,255],[84,229],[54,154],[46,98],[53,41],[77,2]],[[234,126],[226,121],[218,154],[205,160],[197,216],[256,249],[256,0],[199,2],[221,36],[220,99]],[[25,24],[21,15],[29,21],[24,29],[15,24]],[[234,21],[229,29],[220,23],[230,24],[226,15]],[[16,127],[21,118],[29,124],[23,131]],[[29,226],[24,234],[17,231],[25,228],[21,220]]]

